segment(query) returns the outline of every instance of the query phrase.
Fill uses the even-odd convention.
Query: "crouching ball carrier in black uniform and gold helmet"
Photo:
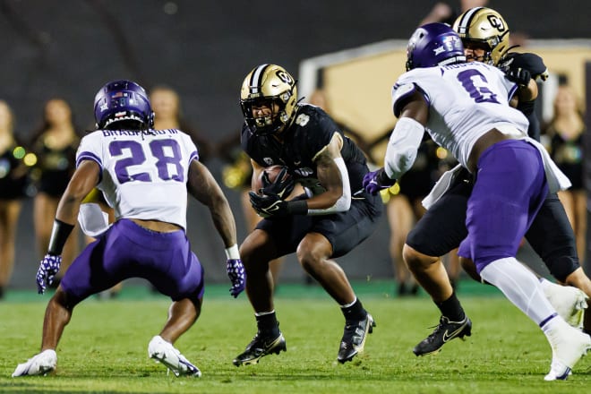
[[[333,259],[372,234],[381,215],[379,196],[365,193],[364,153],[320,107],[298,103],[295,79],[276,64],[261,64],[244,79],[240,99],[242,147],[251,158],[253,185],[264,167],[282,165],[290,176],[250,193],[263,219],[240,246],[246,294],[258,331],[236,366],[256,364],[264,355],[286,350],[273,304],[269,261],[297,253],[302,268],[338,303],[345,330],[338,362],[364,349],[375,325],[355,296],[345,272]],[[305,194],[284,200],[297,182]]]

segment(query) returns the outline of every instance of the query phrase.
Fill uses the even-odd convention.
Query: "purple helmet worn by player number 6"
[[[407,71],[465,61],[462,40],[445,23],[427,23],[408,40]]]

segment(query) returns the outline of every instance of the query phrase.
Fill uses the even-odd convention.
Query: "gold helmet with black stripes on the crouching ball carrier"
[[[276,64],[261,64],[246,75],[240,91],[244,121],[256,134],[277,133],[290,124],[297,103],[295,79]],[[268,116],[254,116],[253,107],[271,108]]]

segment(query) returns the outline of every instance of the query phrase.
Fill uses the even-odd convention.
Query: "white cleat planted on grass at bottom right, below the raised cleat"
[[[544,381],[566,381],[578,360],[591,350],[591,337],[561,321],[547,333],[552,347],[552,364]]]

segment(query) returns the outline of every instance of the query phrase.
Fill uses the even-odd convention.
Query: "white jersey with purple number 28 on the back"
[[[97,187],[116,218],[174,223],[186,229],[187,175],[199,158],[189,135],[176,129],[97,130],[81,140],[76,167],[99,164]]]

